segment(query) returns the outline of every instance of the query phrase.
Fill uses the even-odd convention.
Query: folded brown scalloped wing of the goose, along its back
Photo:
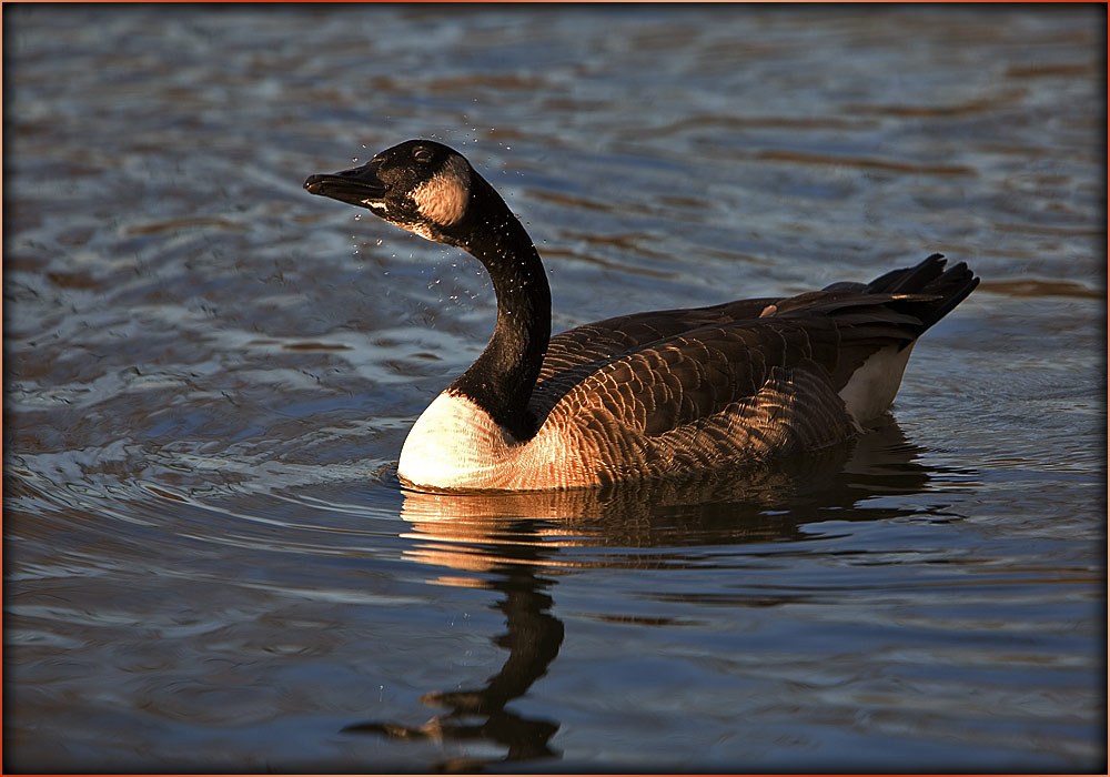
[[[553,339],[529,410],[542,423],[561,403],[603,402],[616,415],[638,418],[644,434],[659,434],[755,395],[775,366],[809,360],[839,391],[871,353],[910,342],[921,326],[888,306],[891,295],[807,296],[800,305],[796,297],[733,305],[728,314],[744,316],[737,319],[718,306],[676,311],[673,319],[668,312],[627,316],[639,319],[630,331],[618,327],[620,320],[572,330]],[[768,304],[779,312],[759,317]],[[690,313],[704,315],[684,315]],[[719,323],[689,329],[699,319]],[[668,329],[678,333],[667,336]]]

